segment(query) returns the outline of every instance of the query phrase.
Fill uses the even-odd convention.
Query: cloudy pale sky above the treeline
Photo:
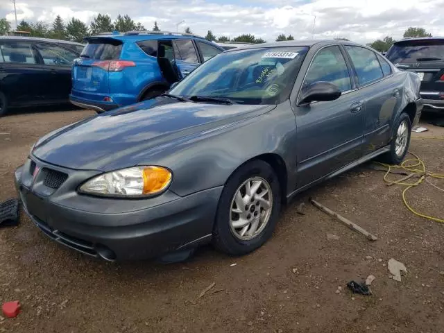
[[[368,43],[389,35],[400,39],[409,26],[444,36],[444,0],[16,0],[17,19],[52,22],[60,15],[85,23],[95,15],[128,14],[148,29],[189,26],[193,33],[235,37],[252,33],[271,42],[280,34],[296,40],[343,37]],[[0,17],[15,28],[12,0],[0,0]]]

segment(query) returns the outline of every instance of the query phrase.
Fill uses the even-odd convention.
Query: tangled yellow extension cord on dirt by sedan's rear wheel
[[[444,137],[412,137],[412,138],[420,138],[420,139],[444,139]],[[433,173],[430,171],[427,171],[425,168],[425,163],[424,161],[422,161],[418,155],[411,153],[409,151],[409,153],[411,155],[413,155],[416,158],[410,158],[409,160],[404,160],[404,162],[402,162],[400,165],[391,165],[391,164],[385,164],[385,163],[379,163],[381,165],[383,165],[384,167],[388,168],[386,174],[384,175],[384,181],[391,183],[391,184],[397,184],[397,185],[404,185],[405,189],[402,191],[402,200],[404,201],[404,205],[409,209],[410,212],[412,212],[413,214],[423,217],[425,219],[429,219],[432,221],[436,221],[436,222],[440,222],[440,223],[444,223],[444,219],[438,219],[437,217],[434,216],[429,216],[426,214],[422,214],[420,212],[417,212],[416,210],[413,210],[413,208],[411,207],[411,205],[409,205],[409,203],[407,203],[407,199],[405,194],[407,193],[407,191],[409,191],[409,189],[411,189],[412,187],[416,187],[418,185],[420,185],[422,183],[422,181],[426,180],[426,182],[428,182],[430,185],[432,185],[433,187],[435,187],[436,189],[438,189],[439,191],[443,191],[444,189],[441,189],[440,187],[434,185],[432,182],[429,182],[429,180],[427,180],[427,177],[432,177],[432,178],[438,178],[438,179],[444,179],[444,174],[439,174],[439,173]],[[412,164],[409,164],[413,162]],[[422,174],[422,176],[419,178],[418,181],[416,182],[400,182],[397,180],[390,180],[387,178],[387,176],[391,173],[392,169],[403,169],[405,171],[409,171],[411,173],[419,173]]]

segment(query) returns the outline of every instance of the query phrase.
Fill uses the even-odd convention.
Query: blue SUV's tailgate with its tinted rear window
[[[87,42],[80,59],[73,65],[73,89],[108,94],[109,71],[100,65],[110,60],[119,60],[123,42],[111,37],[91,37]]]

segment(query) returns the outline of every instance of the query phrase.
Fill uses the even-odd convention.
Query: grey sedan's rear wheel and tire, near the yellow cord
[[[400,164],[409,151],[411,135],[410,117],[407,113],[400,114],[395,121],[391,134],[390,151],[381,156],[381,162]]]

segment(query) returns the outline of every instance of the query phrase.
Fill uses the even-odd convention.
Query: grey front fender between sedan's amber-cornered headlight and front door
[[[187,196],[224,185],[246,161],[265,153],[282,157],[287,189],[296,184],[296,119],[287,101],[257,117],[201,133],[155,158],[173,171],[171,191]]]

